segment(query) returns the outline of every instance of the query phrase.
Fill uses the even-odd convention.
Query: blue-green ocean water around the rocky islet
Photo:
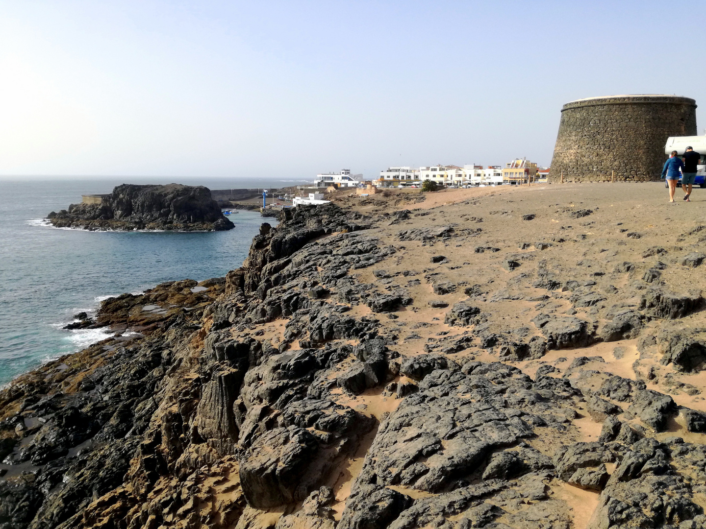
[[[7,177],[6,177],[7,178]],[[121,183],[184,183],[211,189],[294,186],[301,181],[196,178],[0,179],[0,386],[60,355],[108,336],[61,329],[100,300],[162,281],[221,277],[239,267],[263,219],[230,215],[235,229],[212,233],[57,229],[51,211],[109,193]]]

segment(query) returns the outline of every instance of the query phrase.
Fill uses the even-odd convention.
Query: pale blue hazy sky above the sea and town
[[[582,97],[693,97],[706,4],[0,0],[0,174],[551,162]]]

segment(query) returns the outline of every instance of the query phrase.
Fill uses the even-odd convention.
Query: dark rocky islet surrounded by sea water
[[[59,228],[222,231],[234,228],[203,186],[116,186],[100,204],[72,204],[47,219]]]

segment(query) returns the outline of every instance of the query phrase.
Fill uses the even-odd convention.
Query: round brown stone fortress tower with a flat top
[[[696,135],[696,102],[674,95],[588,97],[561,109],[549,182],[659,180],[669,136]],[[681,154],[681,153],[680,153]]]

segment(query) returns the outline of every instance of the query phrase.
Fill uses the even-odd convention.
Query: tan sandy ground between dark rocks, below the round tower
[[[412,192],[410,192],[412,191]],[[642,274],[657,262],[662,262],[663,288],[676,293],[702,291],[706,276],[700,268],[679,264],[690,252],[700,251],[705,243],[693,231],[700,226],[706,202],[706,190],[695,189],[691,202],[668,202],[663,183],[605,183],[563,184],[533,186],[498,186],[474,189],[444,190],[438,193],[417,193],[417,190],[378,193],[369,197],[350,196],[341,190],[331,196],[342,207],[355,209],[381,219],[378,227],[366,231],[381,245],[393,245],[397,253],[373,267],[352,271],[361,283],[373,284],[381,291],[404,289],[413,299],[411,305],[401,308],[392,318],[376,315],[366,305],[354,305],[349,315],[378,317],[383,333],[397,336],[397,351],[404,355],[425,352],[425,346],[468,335],[467,327],[452,327],[444,323],[449,308],[460,300],[468,300],[467,288],[480,293],[469,303],[489,313],[489,322],[497,332],[525,329],[525,340],[541,336],[532,318],[541,312],[557,316],[574,315],[595,324],[600,329],[606,308],[639,303],[639,297],[650,285],[642,281]],[[395,212],[409,210],[409,218],[396,220]],[[585,217],[573,218],[573,212],[590,209]],[[526,215],[533,215],[525,220]],[[528,218],[528,217],[525,217]],[[706,223],[705,223],[706,224]],[[400,231],[413,229],[453,227],[453,236],[429,241],[402,241]],[[706,226],[705,226],[706,228]],[[690,233],[692,232],[693,233]],[[706,234],[706,231],[704,231]],[[664,248],[659,255],[645,255],[648,248]],[[481,248],[481,250],[478,250]],[[443,255],[444,262],[433,263],[433,256]],[[503,260],[520,262],[513,271],[503,268]],[[604,293],[605,300],[587,308],[573,308],[572,291],[547,291],[533,288],[539,262],[555,272],[561,281],[578,281],[594,291]],[[631,262],[635,271],[614,272],[616,265]],[[706,264],[703,265],[706,267]],[[381,271],[388,275],[379,279]],[[377,272],[377,274],[376,274]],[[455,286],[445,294],[433,292],[435,285]],[[443,301],[447,307],[433,308],[430,301]],[[284,320],[254,326],[250,332],[270,339],[275,345],[282,340]],[[706,328],[706,312],[696,312],[681,320],[651,320],[642,335],[657,334],[662,329]],[[453,353],[449,358],[474,358],[498,361],[497,348],[485,350],[474,341],[471,347]],[[660,355],[641,355],[638,339],[601,342],[586,348],[550,350],[535,360],[506,362],[534,377],[542,365],[551,365],[556,372],[575,379],[576,373],[568,366],[573,359],[600,357],[582,369],[609,372],[629,379],[645,379],[650,370],[654,377],[647,387],[670,394],[680,406],[706,411],[706,371],[683,373],[674,365],[661,365]],[[445,342],[444,342],[445,343]],[[298,346],[295,345],[294,348]],[[404,382],[404,381],[402,381]],[[679,384],[689,384],[695,391],[684,391]],[[383,388],[370,389],[356,397],[338,390],[339,402],[366,415],[384,420],[397,407],[400,399]],[[628,403],[618,403],[626,409]],[[575,409],[572,430],[562,439],[551,437],[551,432],[540,432],[539,441],[530,442],[540,451],[551,455],[558,444],[573,441],[596,441],[602,424],[592,420],[582,406]],[[635,420],[637,421],[637,420]],[[340,519],[350,487],[361,470],[376,430],[368,434],[354,458],[345,461],[330,478],[335,494],[334,516]],[[704,434],[686,432],[683,415],[669,424],[669,431],[657,438],[679,435],[688,442],[706,443]],[[612,471],[613,468],[609,468]],[[585,528],[598,504],[598,493],[581,490],[553,480],[549,484],[552,497],[566,505],[573,519],[573,527]],[[402,487],[404,488],[404,487]],[[425,492],[402,490],[412,497]]]

